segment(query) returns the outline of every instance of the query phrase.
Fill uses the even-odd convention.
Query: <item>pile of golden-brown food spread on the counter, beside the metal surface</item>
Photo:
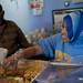
[[[32,83],[33,79],[45,69],[45,61],[19,61],[15,70],[0,68],[0,80],[3,83]],[[0,83],[2,83],[0,82]]]

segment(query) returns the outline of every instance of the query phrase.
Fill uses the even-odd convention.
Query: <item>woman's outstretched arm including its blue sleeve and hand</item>
[[[46,38],[43,40],[40,40],[39,43],[37,45],[30,46],[24,49],[21,53],[18,54],[13,54],[10,58],[7,59],[8,62],[18,60],[20,58],[33,58],[37,56],[38,54],[44,54],[45,58],[48,58],[49,60],[54,58],[54,50],[53,46],[54,44],[51,42],[51,38]]]

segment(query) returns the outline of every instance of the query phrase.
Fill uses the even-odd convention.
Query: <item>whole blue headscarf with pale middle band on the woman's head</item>
[[[83,30],[83,12],[72,12],[65,15],[63,21],[66,23],[66,31],[70,42],[76,41]]]

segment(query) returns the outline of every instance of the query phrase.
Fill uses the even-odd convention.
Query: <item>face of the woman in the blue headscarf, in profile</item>
[[[66,24],[65,23],[62,24],[61,34],[62,34],[63,42],[70,41],[70,39],[68,38],[68,31],[66,31]]]

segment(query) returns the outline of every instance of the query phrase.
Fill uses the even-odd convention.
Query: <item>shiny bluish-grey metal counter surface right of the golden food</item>
[[[83,68],[50,65],[33,83],[83,83]]]

